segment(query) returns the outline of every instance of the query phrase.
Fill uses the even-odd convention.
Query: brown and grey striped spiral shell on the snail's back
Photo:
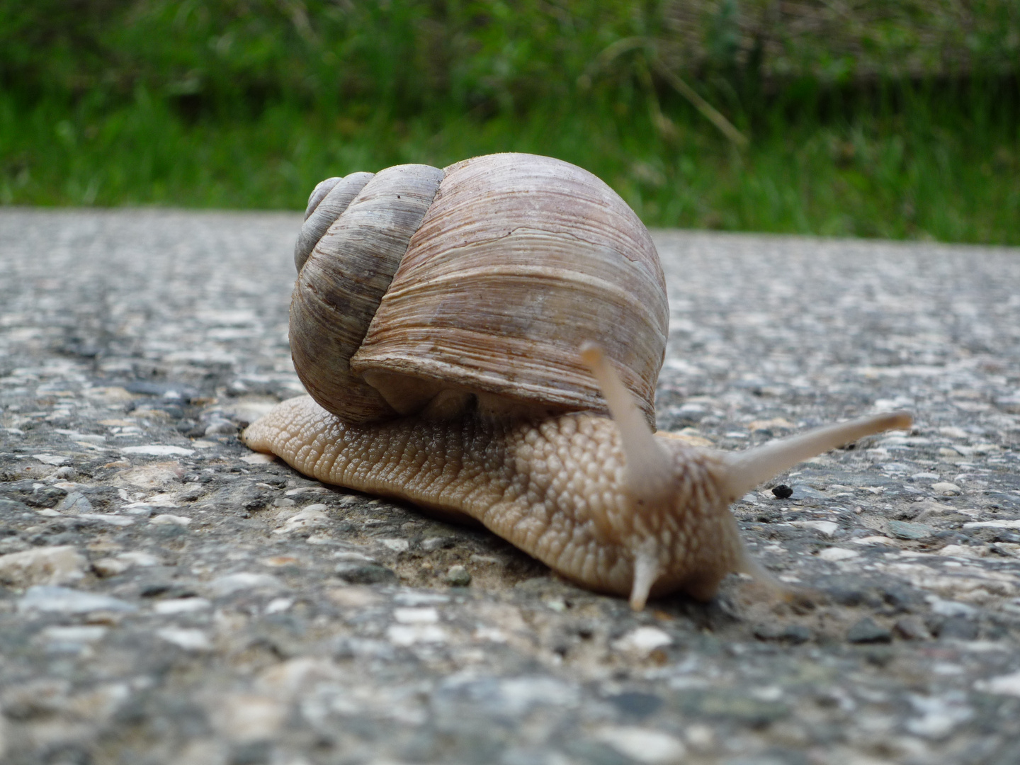
[[[530,154],[319,184],[295,248],[294,365],[351,422],[444,390],[605,413],[602,345],[654,426],[669,312],[648,231],[606,184]]]

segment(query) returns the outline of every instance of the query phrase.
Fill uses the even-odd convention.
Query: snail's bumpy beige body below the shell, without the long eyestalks
[[[672,465],[662,502],[624,488],[612,420],[573,413],[541,420],[478,413],[345,423],[310,397],[291,399],[244,435],[302,473],[470,516],[592,590],[713,597],[747,556],[721,487],[720,456],[656,439]],[[635,591],[644,566],[645,594]]]

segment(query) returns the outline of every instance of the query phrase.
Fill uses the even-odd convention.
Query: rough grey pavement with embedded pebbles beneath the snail
[[[1020,251],[658,233],[660,427],[916,425],[734,506],[823,598],[635,614],[240,444],[299,224],[0,211],[4,763],[1020,762]]]

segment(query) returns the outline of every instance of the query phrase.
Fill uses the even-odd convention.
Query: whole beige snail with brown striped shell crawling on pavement
[[[732,572],[773,581],[729,505],[911,422],[876,414],[738,453],[655,435],[658,254],[622,199],[557,159],[324,181],[295,264],[291,349],[310,396],[245,443],[326,483],[474,518],[635,610],[673,592],[710,600]]]

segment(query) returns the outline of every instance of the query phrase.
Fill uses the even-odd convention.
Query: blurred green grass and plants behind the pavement
[[[1020,244],[1018,83],[1014,0],[37,0],[0,6],[0,203],[530,151],[652,225]]]

